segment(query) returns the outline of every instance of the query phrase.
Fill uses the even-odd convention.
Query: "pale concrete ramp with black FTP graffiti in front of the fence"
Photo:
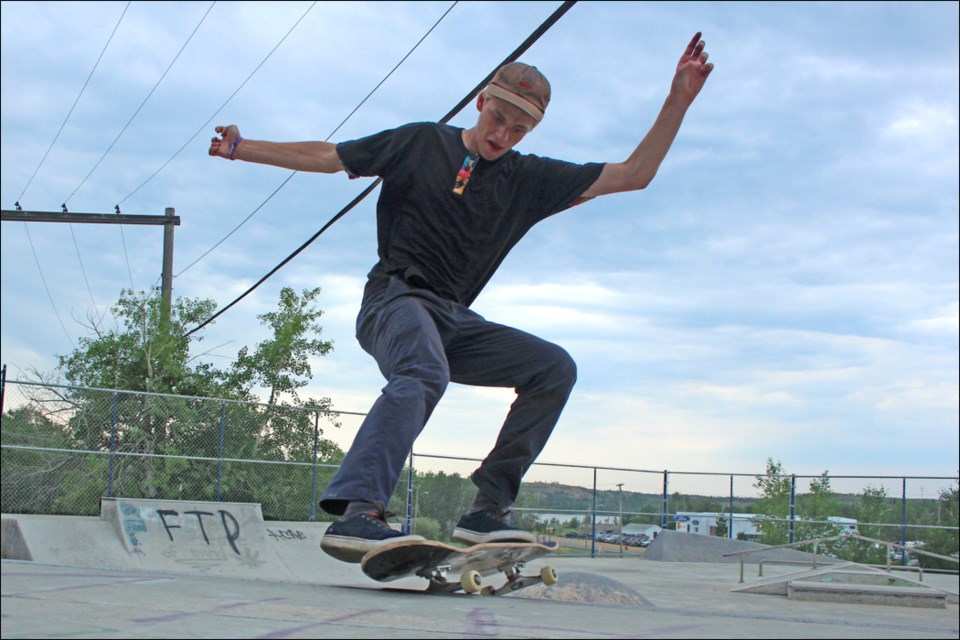
[[[3,557],[73,566],[311,581],[329,523],[265,522],[259,504],[104,498],[100,517],[3,516]]]

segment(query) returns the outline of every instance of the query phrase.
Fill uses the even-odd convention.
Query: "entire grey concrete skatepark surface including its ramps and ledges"
[[[741,570],[729,554],[757,545],[665,531],[640,556],[530,563],[557,569],[551,587],[427,594],[419,578],[379,583],[326,556],[326,526],[264,522],[259,505],[122,499],[99,518],[5,514],[0,636],[960,637],[956,574],[894,572],[906,588],[878,597],[832,559],[764,551]]]

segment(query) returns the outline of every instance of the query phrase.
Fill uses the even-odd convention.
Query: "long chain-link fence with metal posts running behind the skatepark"
[[[330,520],[318,501],[364,414],[3,381],[4,513],[98,515],[101,496],[260,503]],[[407,531],[449,540],[480,460],[411,454],[390,499]],[[675,529],[766,544],[857,533],[901,564],[956,570],[956,477],[764,476],[536,463],[511,517],[570,553],[642,553]],[[945,558],[931,557],[919,551]],[[827,553],[883,564],[882,544]]]

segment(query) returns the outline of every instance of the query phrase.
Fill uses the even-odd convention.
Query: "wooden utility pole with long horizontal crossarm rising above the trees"
[[[163,225],[163,270],[160,276],[160,326],[170,323],[170,307],[173,303],[173,228],[180,224],[173,207],[167,207],[162,216],[129,215],[110,213],[70,213],[63,211],[24,211],[17,204],[16,211],[0,211],[3,222],[68,222],[84,224],[162,224]]]

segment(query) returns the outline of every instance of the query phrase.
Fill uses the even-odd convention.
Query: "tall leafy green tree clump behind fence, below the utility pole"
[[[216,464],[188,463],[173,456],[342,459],[343,452],[328,440],[320,441],[314,456],[319,416],[323,412],[324,424],[329,424],[333,415],[330,400],[301,398],[297,393],[309,380],[309,359],[333,348],[317,338],[322,315],[315,307],[319,292],[310,289],[297,295],[283,289],[277,310],[260,316],[271,329],[271,338],[259,343],[252,355],[244,347],[236,361],[219,369],[201,361],[207,354],[191,353],[202,342],[202,334],[186,335],[188,328],[210,316],[216,308],[213,301],[179,298],[171,306],[169,322],[162,322],[159,296],[124,290],[111,309],[113,326],[92,323],[90,336],[81,338],[70,354],[58,356],[61,377],[75,386],[42,388],[37,395],[45,397],[34,398],[32,406],[43,407],[51,432],[58,430],[69,443],[65,448],[145,454],[116,458],[115,495],[203,500],[222,491],[224,500],[263,503],[265,515],[272,509],[277,517],[305,516],[310,507],[309,467],[294,467],[291,472],[290,467],[235,463],[224,465],[221,475]],[[297,410],[202,399],[254,401],[255,391],[263,388],[269,400],[283,398]],[[150,393],[111,396],[103,389]],[[82,468],[60,478],[54,499],[60,512],[76,504],[95,512],[104,493],[108,458],[88,455],[83,461]],[[6,485],[6,464],[3,477]],[[287,505],[301,505],[301,512],[290,513]]]

